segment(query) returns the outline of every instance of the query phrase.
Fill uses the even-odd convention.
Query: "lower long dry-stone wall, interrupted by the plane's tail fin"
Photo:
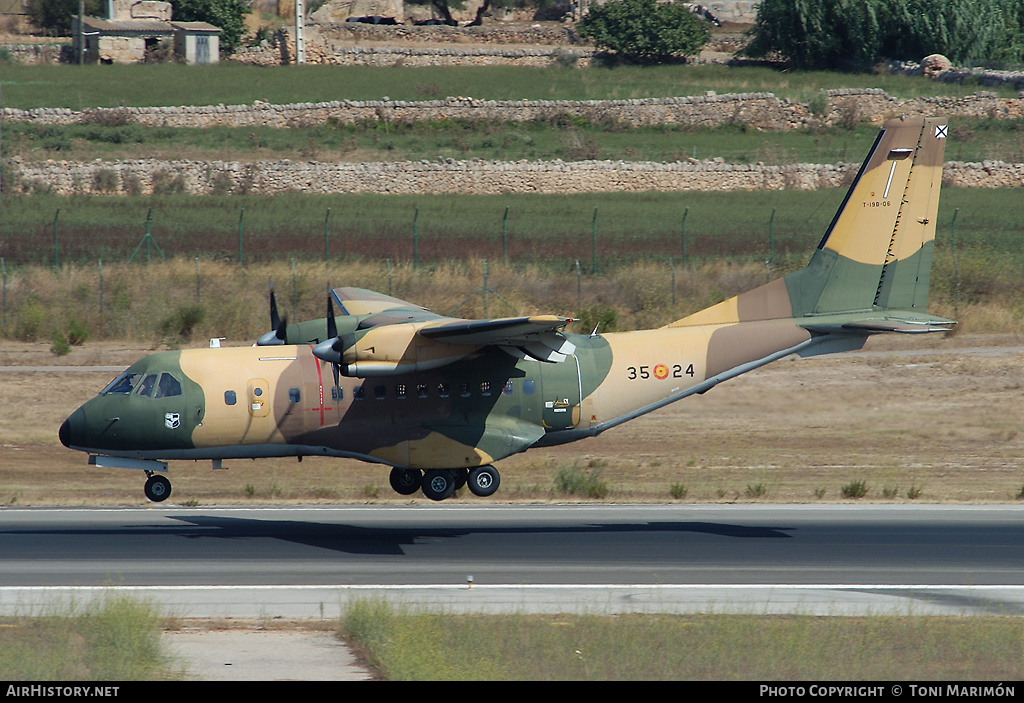
[[[265,161],[8,162],[9,192],[191,194],[284,192],[378,194],[572,193],[642,190],[811,190],[851,182],[857,164],[765,166],[713,162],[388,163]],[[1024,186],[1024,164],[949,163],[943,180],[963,187]]]

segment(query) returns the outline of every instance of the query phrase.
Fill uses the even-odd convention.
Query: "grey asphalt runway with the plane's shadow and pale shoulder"
[[[1024,614],[1020,509],[3,509],[0,613],[112,589],[181,617],[447,612]]]

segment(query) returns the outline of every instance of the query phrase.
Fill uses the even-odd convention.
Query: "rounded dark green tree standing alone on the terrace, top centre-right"
[[[577,31],[598,49],[642,63],[692,56],[711,37],[708,24],[684,5],[654,0],[609,0],[591,7]]]

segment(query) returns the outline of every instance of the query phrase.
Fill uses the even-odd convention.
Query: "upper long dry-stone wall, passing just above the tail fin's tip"
[[[1024,98],[1001,98],[979,92],[965,97],[928,97],[900,100],[878,89],[825,91],[815,105],[780,99],[771,93],[709,94],[691,97],[634,100],[477,100],[449,97],[439,100],[339,100],[286,105],[257,101],[251,105],[181,107],[111,107],[78,112],[61,107],[16,109],[5,107],[6,122],[70,125],[86,122],[150,127],[270,127],[314,126],[328,122],[416,122],[481,120],[528,122],[575,116],[592,122],[621,122],[631,126],[691,125],[715,127],[743,124],[754,129],[782,131],[815,126],[881,123],[899,115],[941,115],[955,119],[1021,119]]]

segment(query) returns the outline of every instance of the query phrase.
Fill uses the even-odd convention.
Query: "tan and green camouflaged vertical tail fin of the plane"
[[[925,312],[945,136],[943,119],[887,122],[806,268],[670,326],[841,315],[849,329],[895,310],[948,321]]]

